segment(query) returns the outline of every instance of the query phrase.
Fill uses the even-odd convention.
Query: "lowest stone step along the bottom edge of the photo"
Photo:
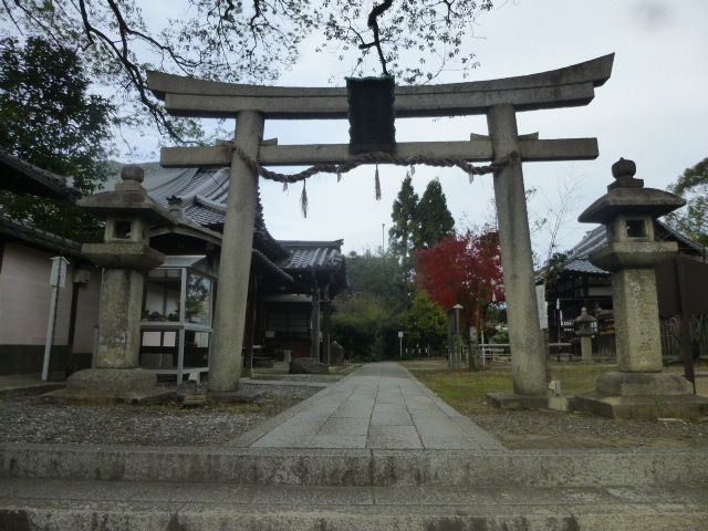
[[[293,487],[0,481],[13,531],[696,531],[708,487]]]

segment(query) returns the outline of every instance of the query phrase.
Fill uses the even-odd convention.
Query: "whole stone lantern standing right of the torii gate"
[[[678,251],[675,242],[655,241],[654,219],[686,201],[663,190],[644,188],[636,166],[623,158],[612,166],[616,181],[592,204],[581,222],[603,223],[607,244],[590,261],[612,272],[618,372],[597,378],[594,393],[577,405],[615,418],[691,416],[708,406],[683,376],[662,372],[662,337],[654,268]]]

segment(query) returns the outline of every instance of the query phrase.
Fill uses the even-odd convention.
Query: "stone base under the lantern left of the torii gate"
[[[72,374],[66,388],[49,393],[58,399],[88,403],[156,404],[176,396],[157,387],[157,376],[143,368],[86,368]]]

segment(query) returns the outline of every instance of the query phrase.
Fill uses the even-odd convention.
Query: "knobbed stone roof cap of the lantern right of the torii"
[[[581,214],[581,223],[607,225],[618,215],[648,215],[658,218],[686,205],[686,200],[668,191],[644,188],[643,179],[635,179],[636,165],[621,158],[612,165],[612,175],[616,179],[607,186],[602,196]]]

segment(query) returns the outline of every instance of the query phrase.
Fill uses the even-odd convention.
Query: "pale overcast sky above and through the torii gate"
[[[531,74],[616,54],[612,77],[596,88],[590,105],[517,115],[521,134],[598,139],[600,158],[593,162],[524,164],[527,187],[538,189],[530,205],[532,218],[543,216],[548,205],[558,204],[559,181],[572,176],[579,184],[576,209],[560,235],[561,249],[594,228],[575,222],[575,218],[605,192],[612,180],[611,165],[620,157],[635,160],[637,177],[656,188],[666,188],[684,169],[708,157],[706,0],[516,0],[497,2],[476,25],[469,51],[481,65],[468,80],[447,72],[437,83]],[[333,55],[315,54],[303,46],[303,60],[278,84],[332,86],[330,79],[341,73],[334,85],[343,86],[350,69],[351,64],[339,63]],[[487,134],[483,116],[396,122],[397,142],[465,140],[470,133]],[[266,137],[278,137],[280,144],[346,144],[348,124],[273,121],[267,123]],[[343,238],[347,252],[377,249],[382,223],[387,243],[392,202],[406,170],[381,166],[379,171],[381,201],[374,198],[373,167],[346,174],[340,184],[334,175],[309,179],[306,219],[300,212],[301,185],[283,192],[282,185],[261,179],[269,230],[279,239]],[[435,177],[440,178],[458,227],[490,219],[490,176],[478,177],[470,185],[460,170],[419,166],[414,177],[418,194]],[[544,256],[548,233],[537,232],[533,239],[534,249]]]

